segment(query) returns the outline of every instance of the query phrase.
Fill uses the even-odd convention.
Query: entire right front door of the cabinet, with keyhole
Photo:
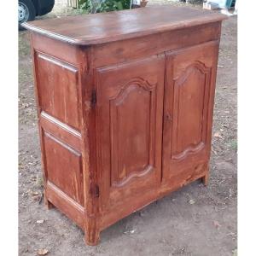
[[[166,54],[164,181],[184,183],[206,172],[217,57],[218,42]]]

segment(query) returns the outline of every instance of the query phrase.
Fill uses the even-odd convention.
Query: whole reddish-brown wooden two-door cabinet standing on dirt
[[[24,25],[45,203],[73,219],[87,244],[171,191],[207,183],[224,19],[155,6]]]

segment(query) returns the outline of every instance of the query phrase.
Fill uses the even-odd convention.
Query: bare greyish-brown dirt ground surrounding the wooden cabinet
[[[61,11],[56,1],[53,13]],[[157,3],[157,1],[155,1]],[[27,32],[19,34],[19,255],[236,255],[236,17],[224,21],[219,51],[209,185],[196,181],[101,234],[96,247],[43,193],[32,59]],[[46,251],[45,251],[46,252]]]

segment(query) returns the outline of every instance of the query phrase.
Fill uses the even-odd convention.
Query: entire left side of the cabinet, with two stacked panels
[[[45,200],[84,229],[81,64],[74,55],[78,49],[63,44],[65,54],[58,49],[51,55],[59,43],[37,39],[32,36]]]

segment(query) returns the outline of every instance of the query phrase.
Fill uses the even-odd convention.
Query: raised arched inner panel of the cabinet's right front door
[[[206,143],[207,101],[204,100],[208,98],[209,75],[209,68],[194,62],[174,79],[173,160],[201,150]]]

